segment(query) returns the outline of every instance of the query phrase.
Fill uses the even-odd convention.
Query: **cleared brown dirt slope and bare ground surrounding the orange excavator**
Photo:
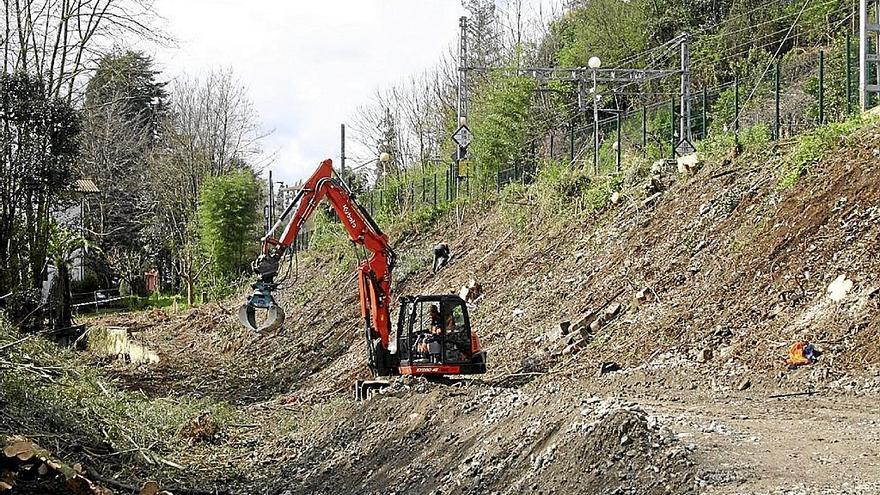
[[[239,329],[237,301],[103,317],[160,357],[103,364],[117,386],[238,418],[220,445],[175,450],[182,470],[134,460],[125,476],[236,493],[880,492],[878,143],[880,127],[859,131],[790,189],[783,145],[667,169],[650,204],[633,180],[589,214],[507,197],[397,226],[398,293],[483,285],[472,319],[490,372],[460,386],[348,400],[367,370],[335,255],[300,257],[273,335]],[[455,258],[433,275],[441,238]],[[852,288],[834,301],[841,275]],[[619,314],[590,342],[552,352],[560,321],[606,303]],[[797,339],[822,354],[788,370]],[[602,362],[621,370],[599,375]]]

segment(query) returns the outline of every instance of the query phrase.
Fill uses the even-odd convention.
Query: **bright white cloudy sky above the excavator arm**
[[[176,46],[152,50],[164,77],[231,68],[248,89],[273,179],[339,158],[340,124],[379,88],[455,46],[459,0],[157,0]],[[347,140],[346,154],[364,156]]]

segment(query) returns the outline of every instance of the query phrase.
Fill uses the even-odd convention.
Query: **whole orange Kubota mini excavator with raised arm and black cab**
[[[303,184],[293,202],[262,240],[262,250],[253,263],[257,281],[254,292],[239,311],[241,323],[257,332],[268,332],[284,324],[284,311],[272,297],[278,289],[276,278],[285,254],[300,229],[326,199],[345,227],[351,241],[369,255],[357,268],[361,317],[367,342],[367,361],[374,376],[460,375],[486,372],[486,353],[471,330],[465,302],[453,294],[405,296],[400,307],[397,331],[391,327],[391,273],[395,254],[388,237],[369,212],[333,171],[331,160],[324,160]],[[284,220],[281,237],[275,232]],[[257,323],[257,311],[266,318]]]

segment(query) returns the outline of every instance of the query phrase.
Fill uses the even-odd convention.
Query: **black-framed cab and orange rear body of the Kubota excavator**
[[[471,330],[468,308],[456,295],[399,299],[397,356],[401,375],[486,372],[486,353]]]

